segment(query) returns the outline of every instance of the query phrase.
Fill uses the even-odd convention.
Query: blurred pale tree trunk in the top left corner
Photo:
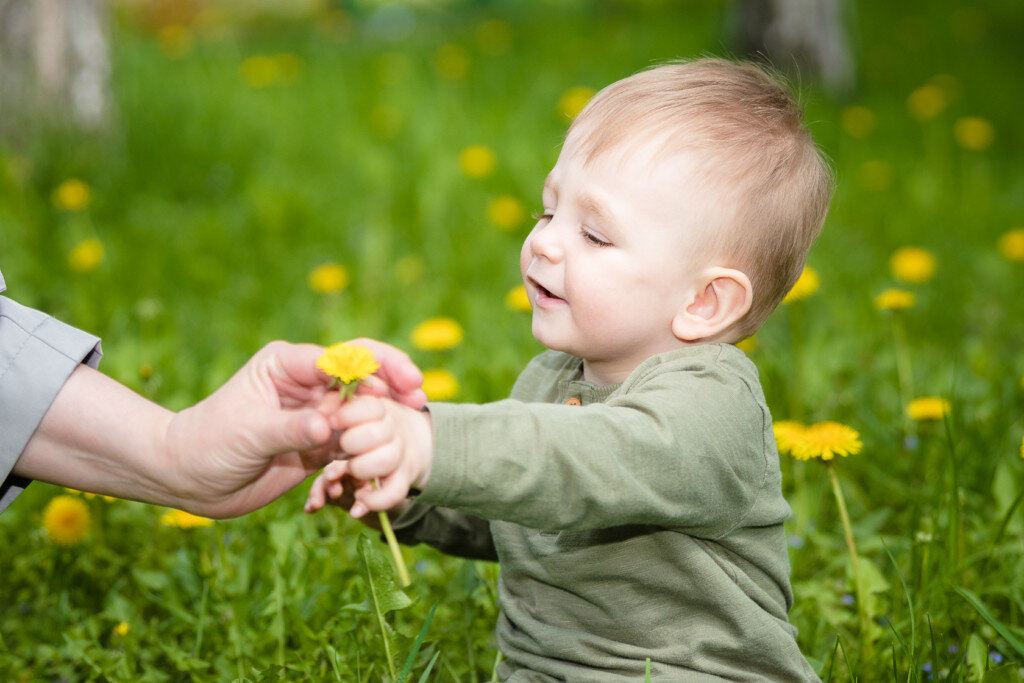
[[[0,0],[0,127],[111,120],[106,0]]]

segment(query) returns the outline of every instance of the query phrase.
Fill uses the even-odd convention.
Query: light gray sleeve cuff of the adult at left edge
[[[0,296],[0,512],[29,483],[10,472],[53,398],[100,354],[98,338]]]

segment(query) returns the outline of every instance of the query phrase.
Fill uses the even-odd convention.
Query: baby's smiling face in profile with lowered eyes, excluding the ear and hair
[[[682,345],[672,319],[707,265],[694,246],[710,203],[690,153],[655,163],[651,143],[585,166],[571,143],[544,184],[520,267],[538,341],[582,357],[586,379],[614,384]]]

